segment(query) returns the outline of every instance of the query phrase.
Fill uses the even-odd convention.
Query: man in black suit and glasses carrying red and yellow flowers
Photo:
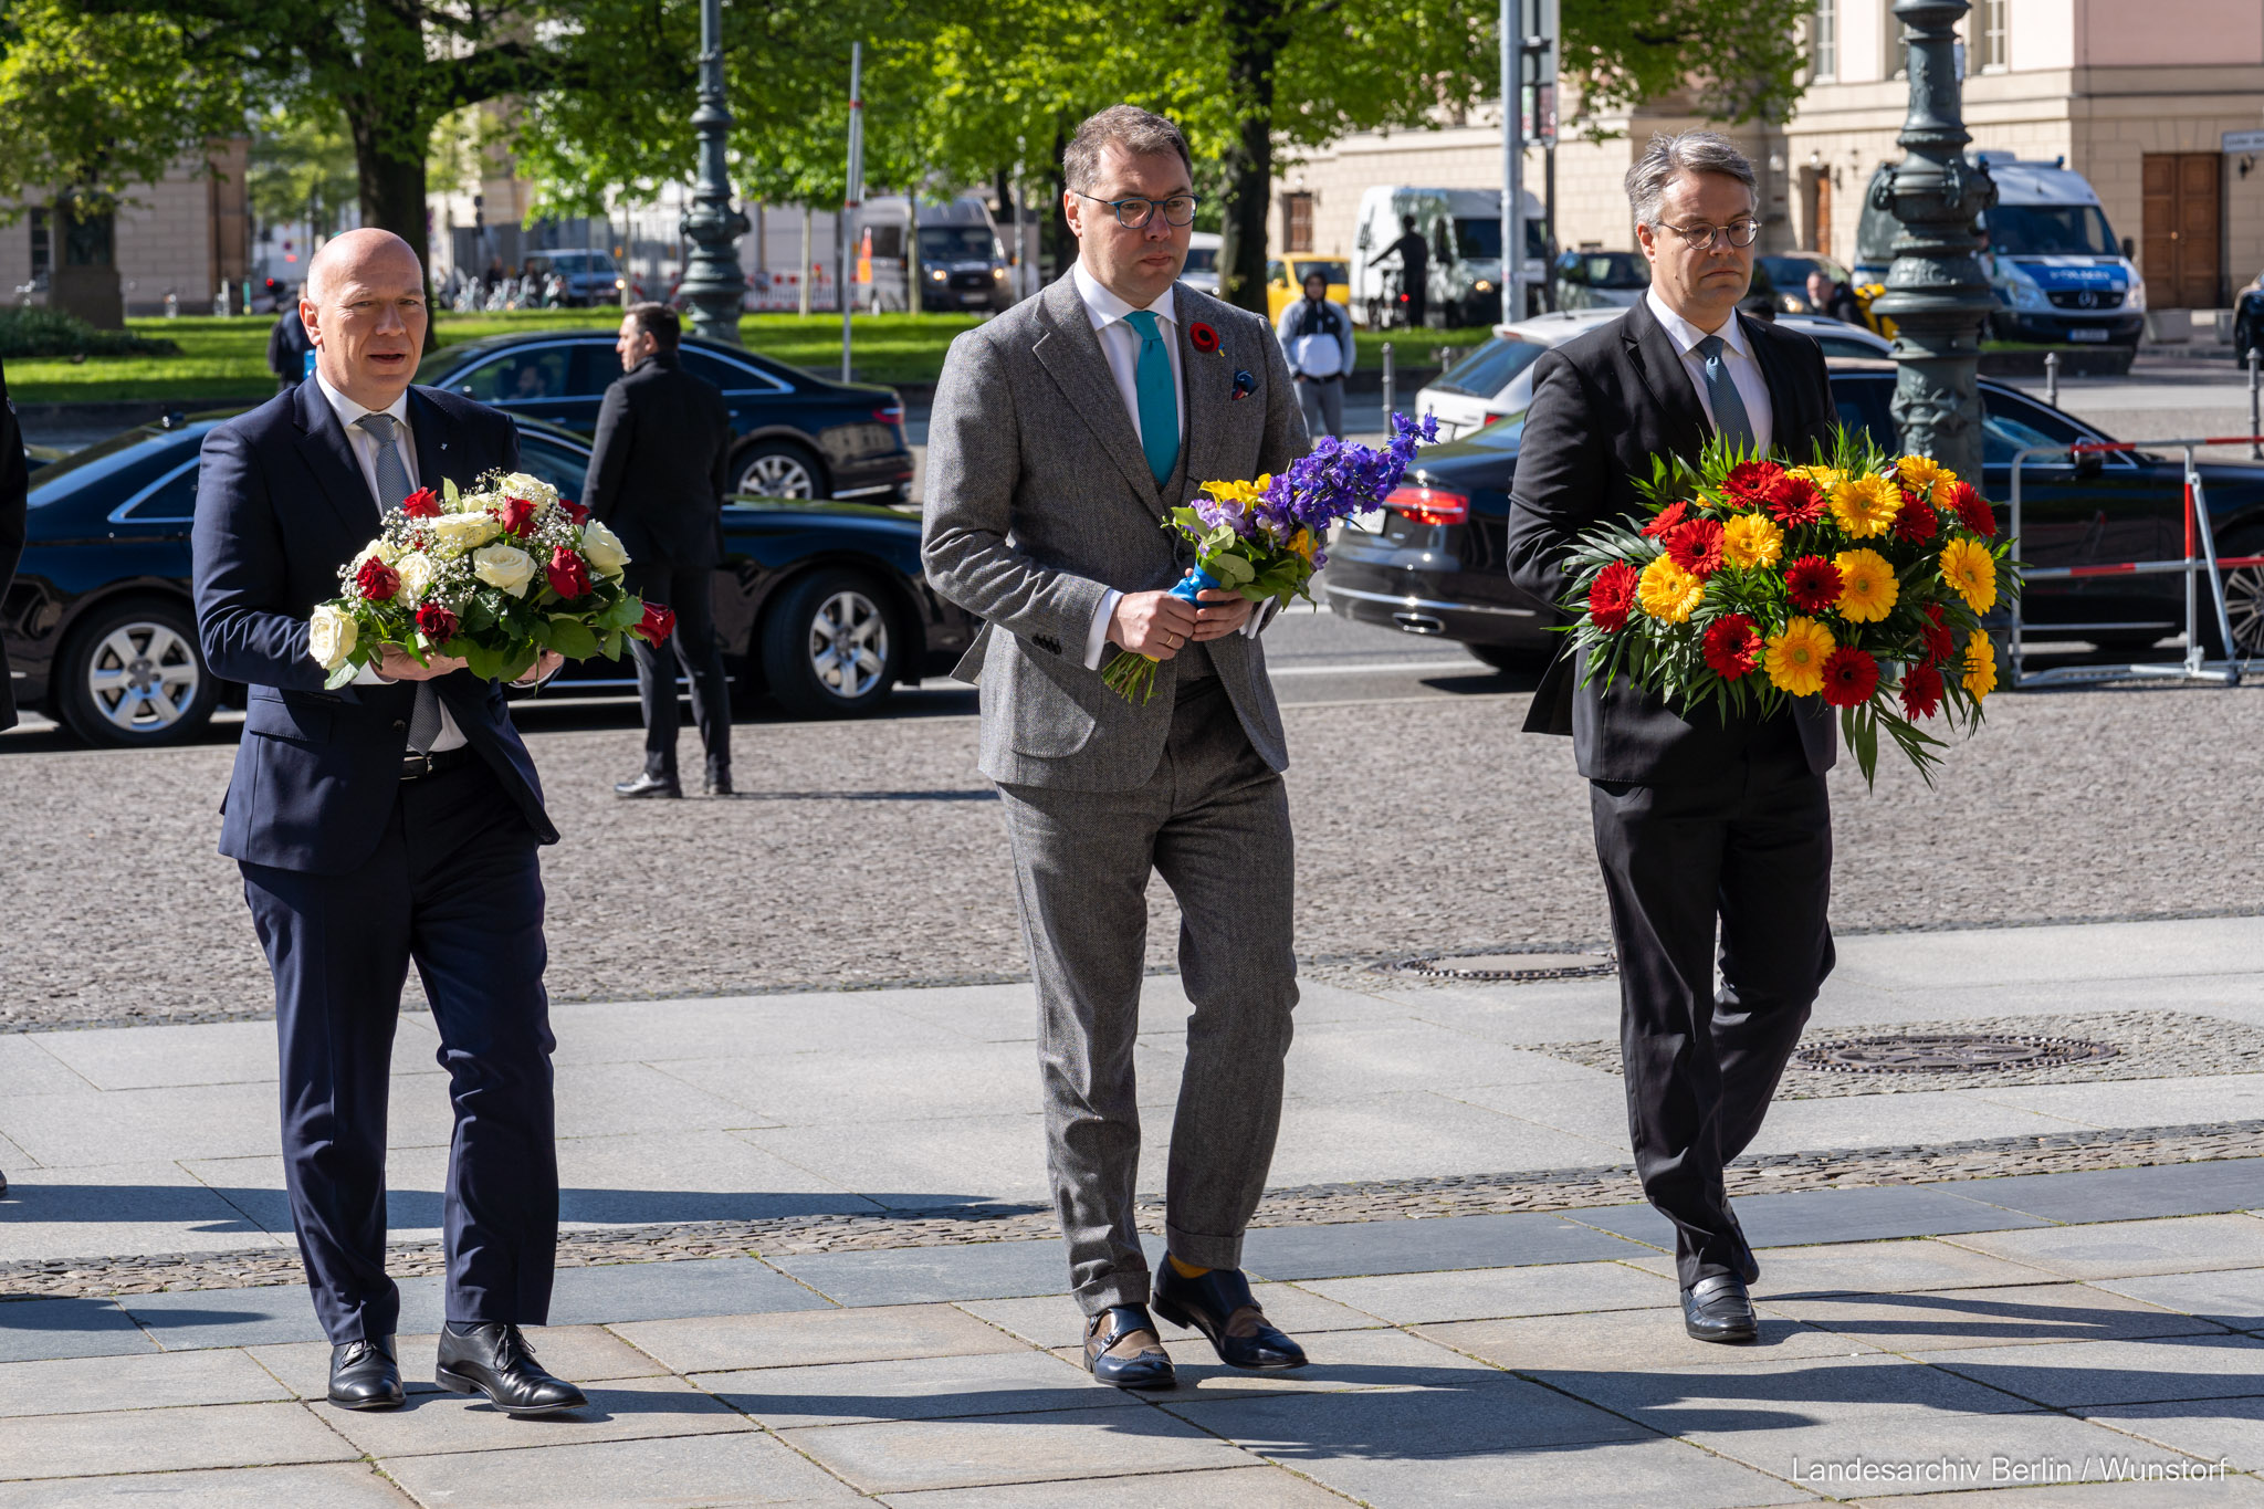
[[[1653,455],[1696,462],[1723,432],[1811,462],[1832,437],[1816,342],[1736,312],[1759,228],[1752,165],[1712,131],[1655,136],[1628,170],[1628,199],[1650,292],[1533,367],[1508,557],[1517,586],[1544,602],[1564,597],[1576,534],[1641,514],[1635,480],[1650,477]],[[1592,783],[1635,1167],[1675,1224],[1684,1328],[1750,1342],[1746,1285],[1759,1269],[1723,1165],[1761,1129],[1832,971],[1832,719],[1809,706],[1684,715],[1626,681],[1585,683],[1585,670],[1569,656],[1549,667],[1526,731],[1569,733]]]

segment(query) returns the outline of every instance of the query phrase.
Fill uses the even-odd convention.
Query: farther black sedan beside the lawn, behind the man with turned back
[[[684,371],[722,389],[738,443],[731,491],[754,498],[901,502],[912,482],[897,389],[829,382],[718,342],[686,339]],[[598,405],[620,376],[611,330],[496,335],[441,346],[417,367],[426,387],[491,403],[577,434],[598,430]]]

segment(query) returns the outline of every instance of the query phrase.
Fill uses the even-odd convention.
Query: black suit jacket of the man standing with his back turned
[[[604,389],[582,505],[636,566],[713,566],[729,464],[722,389],[657,351]]]

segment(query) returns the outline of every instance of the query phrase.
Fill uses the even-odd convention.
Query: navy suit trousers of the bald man
[[[360,869],[242,864],[276,980],[283,1176],[333,1342],[385,1337],[401,1319],[385,1276],[385,1109],[412,962],[455,1104],[446,1319],[548,1317],[559,1176],[534,848],[516,803],[471,760],[403,781]]]

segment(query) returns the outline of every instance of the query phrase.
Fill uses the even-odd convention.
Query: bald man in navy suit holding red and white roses
[[[380,509],[441,480],[518,468],[509,416],[410,387],[423,269],[389,231],[331,240],[299,303],[315,376],[204,439],[192,529],[197,631],[213,674],[247,683],[220,853],[276,980],[283,1176],[331,1403],[401,1403],[385,1276],[385,1102],[410,964],[455,1102],[441,1204],[446,1330],[437,1380],[509,1414],[584,1403],[534,1362],[557,1247],[543,882],[555,844],[503,688],[462,661],[380,665],[324,690],[308,613]],[[528,681],[555,672],[546,654]]]

